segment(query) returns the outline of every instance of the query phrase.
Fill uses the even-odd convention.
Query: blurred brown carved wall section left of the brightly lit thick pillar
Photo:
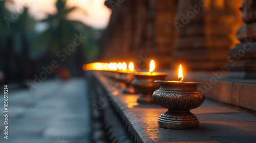
[[[177,38],[173,25],[177,1],[111,2],[105,1],[113,12],[103,36],[102,61],[134,61],[143,68],[150,62],[147,58],[152,58],[158,68],[168,68]]]

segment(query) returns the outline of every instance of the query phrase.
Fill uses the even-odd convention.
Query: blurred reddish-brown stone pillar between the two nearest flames
[[[153,47],[154,57],[158,60],[158,66],[169,68],[173,62],[174,42],[178,39],[178,32],[173,25],[177,10],[177,1],[156,1],[155,16],[155,41]],[[158,68],[159,68],[158,67]]]

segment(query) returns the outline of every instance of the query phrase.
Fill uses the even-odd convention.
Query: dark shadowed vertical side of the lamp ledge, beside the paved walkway
[[[133,142],[110,103],[104,102],[101,105],[99,102],[105,98],[106,92],[109,92],[108,88],[103,87],[103,84],[95,77],[91,77],[90,82],[89,90],[93,108],[93,142]]]

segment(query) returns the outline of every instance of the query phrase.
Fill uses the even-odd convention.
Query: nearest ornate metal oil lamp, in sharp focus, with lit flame
[[[198,91],[198,82],[182,82],[181,65],[179,68],[179,81],[161,81],[160,88],[153,93],[155,103],[168,110],[158,118],[158,125],[168,129],[195,129],[199,125],[198,118],[190,113],[202,105],[205,96]]]

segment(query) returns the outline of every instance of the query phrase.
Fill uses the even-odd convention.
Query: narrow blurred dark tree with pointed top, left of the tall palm
[[[36,21],[28,13],[28,8],[24,8],[23,13],[12,23],[13,48],[16,55],[17,78],[21,81],[32,79],[35,73],[35,64],[30,60],[29,45],[31,32]]]

